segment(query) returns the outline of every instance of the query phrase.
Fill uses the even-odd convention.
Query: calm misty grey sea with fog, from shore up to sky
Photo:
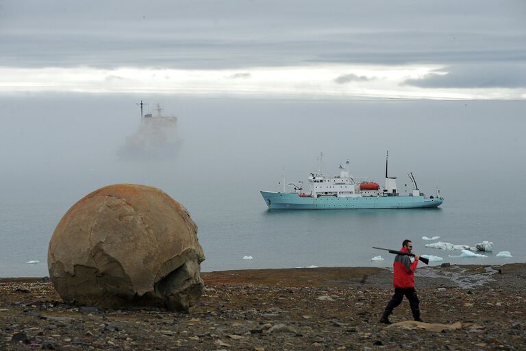
[[[394,257],[372,246],[398,250],[403,239],[444,258],[431,264],[526,261],[523,101],[158,96],[152,102],[179,116],[169,138],[177,142],[141,151],[140,98],[0,98],[0,276],[46,276],[49,239],[66,210],[123,182],[157,186],[188,208],[203,271],[385,267]],[[387,149],[401,194],[412,190],[412,171],[421,191],[440,188],[440,208],[267,210],[259,193],[281,190],[284,178],[306,182],[321,167],[337,174],[346,160],[351,175],[383,184]],[[424,247],[434,241],[422,237],[436,236],[470,246],[492,241],[493,252],[450,258],[460,252]],[[501,251],[513,257],[497,257]],[[371,261],[378,255],[384,261]]]

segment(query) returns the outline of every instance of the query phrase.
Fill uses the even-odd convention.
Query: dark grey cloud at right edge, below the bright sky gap
[[[421,88],[524,88],[526,64],[448,66],[421,79],[405,80],[403,84]]]

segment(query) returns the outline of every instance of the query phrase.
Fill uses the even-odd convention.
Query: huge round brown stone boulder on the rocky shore
[[[105,186],[73,205],[49,243],[47,265],[64,302],[188,311],[204,261],[186,208],[151,186]]]

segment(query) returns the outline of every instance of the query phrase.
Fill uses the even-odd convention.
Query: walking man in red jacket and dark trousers
[[[410,240],[405,239],[400,251],[410,253],[412,250],[413,243]],[[393,275],[395,295],[392,295],[391,300],[387,304],[384,315],[382,315],[380,319],[381,323],[391,324],[389,315],[396,306],[401,304],[404,296],[409,300],[414,320],[423,322],[423,320],[420,319],[420,308],[418,308],[420,301],[418,301],[416,291],[414,290],[414,270],[418,265],[418,258],[420,258],[419,255],[414,255],[414,261],[411,263],[409,256],[397,255],[395,257],[395,263],[392,264],[392,267],[395,269],[395,274]]]

